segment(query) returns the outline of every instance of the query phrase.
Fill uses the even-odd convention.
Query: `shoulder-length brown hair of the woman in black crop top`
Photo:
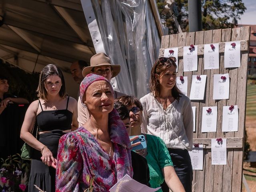
[[[66,86],[65,86],[64,76],[63,76],[60,68],[54,64],[46,65],[43,68],[43,70],[40,72],[39,84],[38,84],[38,88],[36,90],[36,92],[38,93],[37,94],[38,98],[47,101],[47,91],[45,89],[44,83],[45,83],[46,79],[51,75],[57,75],[60,77],[62,86],[60,88],[59,95],[61,98],[65,98],[66,97]]]

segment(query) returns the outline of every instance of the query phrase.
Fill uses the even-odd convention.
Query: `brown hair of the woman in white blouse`
[[[149,88],[155,98],[160,97],[160,83],[159,83],[159,80],[156,79],[155,74],[158,74],[160,76],[165,72],[167,68],[171,66],[174,66],[177,68],[177,65],[174,62],[174,60],[166,57],[160,57],[154,63],[150,73]],[[172,96],[175,99],[179,100],[181,95],[182,95],[182,92],[179,90],[179,88],[175,83],[174,87],[172,88]]]

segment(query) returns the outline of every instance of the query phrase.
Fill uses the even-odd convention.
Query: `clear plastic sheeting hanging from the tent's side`
[[[116,89],[138,98],[149,92],[160,36],[148,0],[92,0],[106,54],[121,65]],[[115,82],[116,81],[116,82]]]

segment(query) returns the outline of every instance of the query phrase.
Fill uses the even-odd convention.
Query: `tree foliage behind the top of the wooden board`
[[[176,34],[176,27],[170,13],[166,16],[161,14],[165,0],[156,0],[160,17],[170,34]],[[175,0],[178,8],[178,22],[183,32],[188,32],[188,0]],[[242,0],[202,0],[202,27],[203,30],[233,28],[234,24],[230,19],[238,20],[244,13],[246,7]]]

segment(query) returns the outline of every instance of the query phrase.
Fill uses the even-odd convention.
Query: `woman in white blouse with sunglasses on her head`
[[[186,192],[191,192],[193,171],[188,150],[193,142],[193,112],[190,99],[176,85],[175,62],[174,57],[156,60],[150,93],[140,99],[144,108],[141,129],[164,140],[176,174]]]

